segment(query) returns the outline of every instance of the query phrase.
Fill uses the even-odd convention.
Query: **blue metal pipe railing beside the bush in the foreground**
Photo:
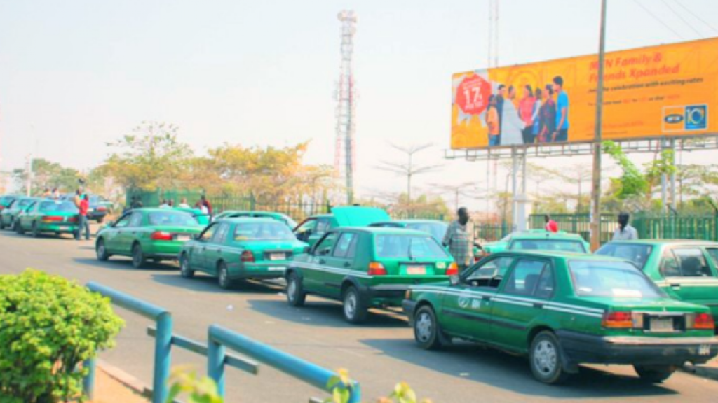
[[[167,401],[169,370],[172,364],[172,346],[207,357],[208,376],[217,383],[218,394],[222,397],[225,396],[225,366],[233,366],[241,371],[255,375],[258,374],[259,370],[259,365],[255,361],[227,354],[225,348],[257,359],[325,392],[332,393],[333,388],[341,386],[328,386],[330,379],[338,376],[335,372],[299,359],[284,351],[274,349],[264,343],[254,341],[222,326],[210,326],[208,329],[208,344],[174,334],[172,333],[172,314],[168,310],[97,283],[90,282],[87,286],[93,292],[110,298],[111,303],[114,305],[155,321],[156,326],[147,328],[147,334],[155,339],[151,391],[153,403],[165,403]],[[83,379],[83,388],[85,395],[92,399],[95,381],[95,360],[85,361],[84,366],[89,371],[88,375]],[[343,385],[343,387],[346,387],[350,392],[350,403],[360,401],[361,389],[358,382],[351,381],[350,385]]]

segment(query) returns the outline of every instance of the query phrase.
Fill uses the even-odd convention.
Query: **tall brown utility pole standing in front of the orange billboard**
[[[603,115],[603,64],[606,45],[607,0],[601,0],[601,32],[598,44],[598,82],[596,88],[596,125],[593,143],[593,184],[591,189],[591,250],[601,246],[601,130]]]

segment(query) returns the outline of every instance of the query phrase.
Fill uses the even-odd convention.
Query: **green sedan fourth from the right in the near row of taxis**
[[[147,260],[176,260],[182,245],[203,228],[185,212],[133,209],[98,232],[95,252],[102,261],[113,255],[131,257],[137,268],[144,267]]]

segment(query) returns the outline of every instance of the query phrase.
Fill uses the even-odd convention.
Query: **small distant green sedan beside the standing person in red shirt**
[[[71,201],[38,200],[17,216],[17,233],[75,234],[78,230],[78,208]]]

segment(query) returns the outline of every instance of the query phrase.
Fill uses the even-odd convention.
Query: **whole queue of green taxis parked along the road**
[[[74,234],[69,201],[0,197],[0,229]],[[95,234],[98,260],[134,267],[178,260],[221,288],[283,278],[286,300],[338,300],[350,323],[370,308],[403,308],[422,349],[454,339],[528,358],[546,384],[579,364],[633,365],[662,382],[686,362],[718,355],[718,243],[610,242],[594,255],[575,234],[515,232],[475,251],[459,272],[440,239],[446,224],[392,220],[382,209],[335,207],[297,224],[276,212],[131,209]]]

